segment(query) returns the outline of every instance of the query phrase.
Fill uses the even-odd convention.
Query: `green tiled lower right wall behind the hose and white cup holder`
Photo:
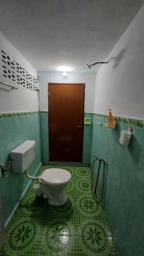
[[[93,115],[91,166],[93,156],[107,161],[103,206],[116,240],[119,255],[143,255],[144,244],[144,129],[133,126],[128,147],[119,144],[121,130],[128,124],[118,122],[116,129],[101,126],[107,122],[103,116]],[[142,125],[141,125],[142,126]],[[94,178],[98,163],[94,165]],[[101,169],[99,193],[102,191]]]

